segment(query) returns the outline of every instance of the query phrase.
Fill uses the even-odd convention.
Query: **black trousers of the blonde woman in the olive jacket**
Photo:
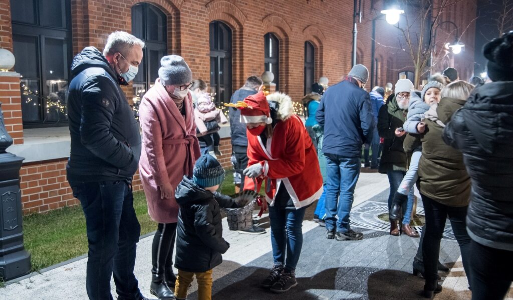
[[[453,207],[439,203],[427,196],[422,196],[424,211],[426,215],[426,225],[424,241],[422,243],[422,256],[424,259],[424,277],[426,282],[436,281],[438,278],[438,257],[440,255],[440,240],[444,232],[445,220],[449,216],[452,231],[458,241],[463,260],[463,268],[470,278],[469,268],[469,249],[470,237],[468,236],[465,218],[467,216],[467,207]],[[470,282],[470,280],[468,281]]]

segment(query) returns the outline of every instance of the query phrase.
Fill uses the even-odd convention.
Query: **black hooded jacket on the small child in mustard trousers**
[[[223,262],[230,247],[223,239],[219,207],[236,208],[230,197],[205,190],[184,176],[174,193],[180,205],[174,266],[186,272],[205,272]]]

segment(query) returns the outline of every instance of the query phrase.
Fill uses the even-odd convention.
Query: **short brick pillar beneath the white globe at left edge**
[[[18,73],[0,72],[0,102],[7,132],[14,144],[23,144],[22,97]]]

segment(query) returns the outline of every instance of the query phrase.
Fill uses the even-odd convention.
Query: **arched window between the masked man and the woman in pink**
[[[167,53],[167,16],[148,3],[132,6],[132,34],[144,40],[143,60],[133,80],[133,95],[142,97],[159,77],[160,59]]]

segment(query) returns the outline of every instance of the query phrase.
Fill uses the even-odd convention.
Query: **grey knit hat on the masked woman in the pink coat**
[[[192,81],[192,72],[184,58],[180,55],[167,55],[161,58],[162,67],[159,69],[159,78],[164,85],[189,84]]]

